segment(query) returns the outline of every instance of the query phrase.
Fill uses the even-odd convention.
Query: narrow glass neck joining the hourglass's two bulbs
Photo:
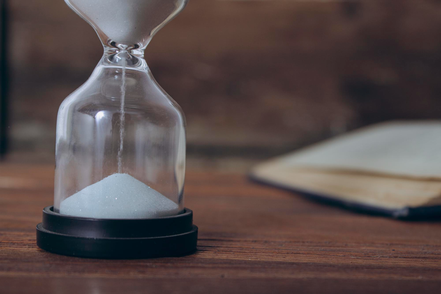
[[[147,69],[144,49],[122,50],[104,46],[104,55],[101,61],[107,66],[123,66],[138,70]]]

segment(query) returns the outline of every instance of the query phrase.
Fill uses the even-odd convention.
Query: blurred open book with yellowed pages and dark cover
[[[365,127],[258,164],[251,177],[366,212],[441,215],[441,121]]]

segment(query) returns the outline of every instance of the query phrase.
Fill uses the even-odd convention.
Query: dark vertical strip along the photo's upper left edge
[[[7,150],[7,0],[0,0],[0,158]]]

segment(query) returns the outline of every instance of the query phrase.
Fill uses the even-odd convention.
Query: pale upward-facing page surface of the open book
[[[273,164],[441,179],[441,121],[389,122],[280,156]]]

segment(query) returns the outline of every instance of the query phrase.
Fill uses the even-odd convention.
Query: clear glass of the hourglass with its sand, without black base
[[[65,0],[96,30],[104,55],[60,106],[54,211],[153,218],[183,211],[185,118],[144,60],[153,35],[187,0]]]

